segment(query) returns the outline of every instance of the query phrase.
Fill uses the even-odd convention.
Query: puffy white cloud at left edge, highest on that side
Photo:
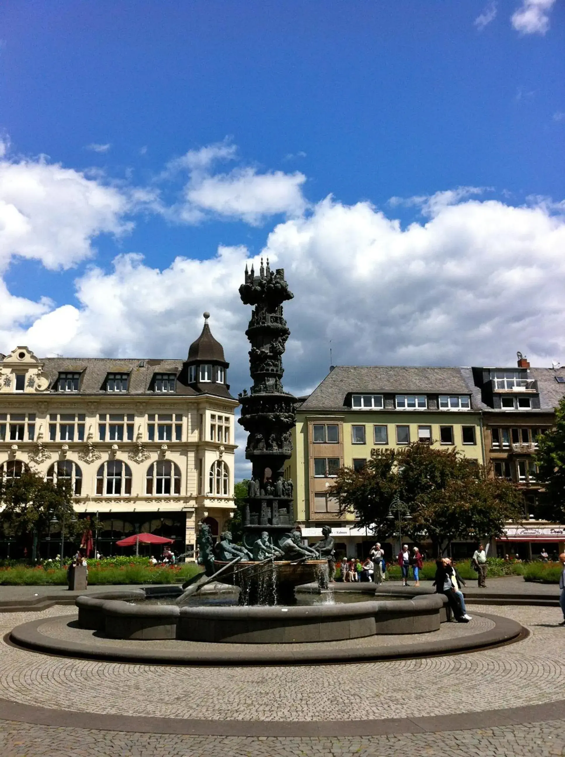
[[[37,160],[0,160],[0,271],[12,257],[69,268],[93,254],[92,239],[131,228],[129,199],[84,173]]]

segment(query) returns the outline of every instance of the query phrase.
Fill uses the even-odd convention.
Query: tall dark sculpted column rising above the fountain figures
[[[244,544],[253,546],[261,531],[268,531],[272,544],[294,525],[293,484],[284,478],[284,467],[292,453],[292,428],[296,422],[296,398],[282,385],[282,355],[290,330],[283,317],[282,304],[293,298],[284,269],[273,273],[261,267],[259,276],[253,266],[245,267],[245,283],[239,288],[241,301],[253,306],[245,334],[253,386],[250,394],[239,395],[239,422],[248,432],[245,456],[252,463],[247,506],[244,517]]]

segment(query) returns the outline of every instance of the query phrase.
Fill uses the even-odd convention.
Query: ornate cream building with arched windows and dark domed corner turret
[[[238,403],[227,369],[207,317],[186,360],[39,358],[16,347],[0,356],[0,472],[29,466],[69,480],[76,512],[102,522],[103,555],[147,531],[190,558],[197,523],[218,534],[234,512]],[[50,535],[42,556],[58,551]],[[22,549],[0,531],[0,556]]]

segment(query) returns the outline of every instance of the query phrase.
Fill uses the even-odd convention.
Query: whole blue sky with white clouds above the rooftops
[[[296,291],[294,391],[330,341],[338,363],[565,363],[564,20],[5,0],[0,350],[182,355],[210,310],[239,391],[263,252]]]

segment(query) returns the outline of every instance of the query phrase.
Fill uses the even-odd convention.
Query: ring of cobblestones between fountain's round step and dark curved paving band
[[[491,607],[473,609],[492,612]],[[73,607],[53,607],[42,617],[72,617],[74,612]],[[511,646],[477,653],[341,665],[184,666],[173,671],[160,665],[50,657],[2,643],[0,697],[54,709],[69,709],[73,702],[72,709],[101,714],[216,721],[402,718],[563,699],[560,609],[501,606],[496,614],[514,618],[532,634]],[[0,635],[38,615],[0,614]],[[409,682],[402,696],[399,681]],[[362,701],[362,709],[336,710],[332,693],[338,691],[344,701]]]

